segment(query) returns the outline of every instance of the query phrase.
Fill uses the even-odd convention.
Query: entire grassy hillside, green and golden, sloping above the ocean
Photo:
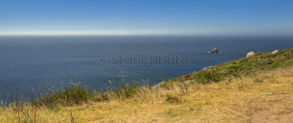
[[[0,122],[290,122],[293,49],[256,53],[150,87],[136,80],[97,92],[76,82],[12,101]],[[110,83],[110,82],[109,82]]]

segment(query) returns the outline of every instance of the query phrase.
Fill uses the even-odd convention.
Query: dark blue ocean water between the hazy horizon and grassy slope
[[[120,84],[133,77],[150,84],[202,68],[243,58],[248,52],[271,52],[293,47],[292,36],[0,36],[0,99],[11,93],[40,96],[42,88],[57,89],[80,80],[98,90],[111,80]],[[220,53],[208,53],[218,48]],[[112,65],[111,58],[196,57],[195,65]],[[110,62],[98,65],[103,58]],[[72,80],[72,81],[71,81]],[[62,81],[62,82],[61,82]]]

